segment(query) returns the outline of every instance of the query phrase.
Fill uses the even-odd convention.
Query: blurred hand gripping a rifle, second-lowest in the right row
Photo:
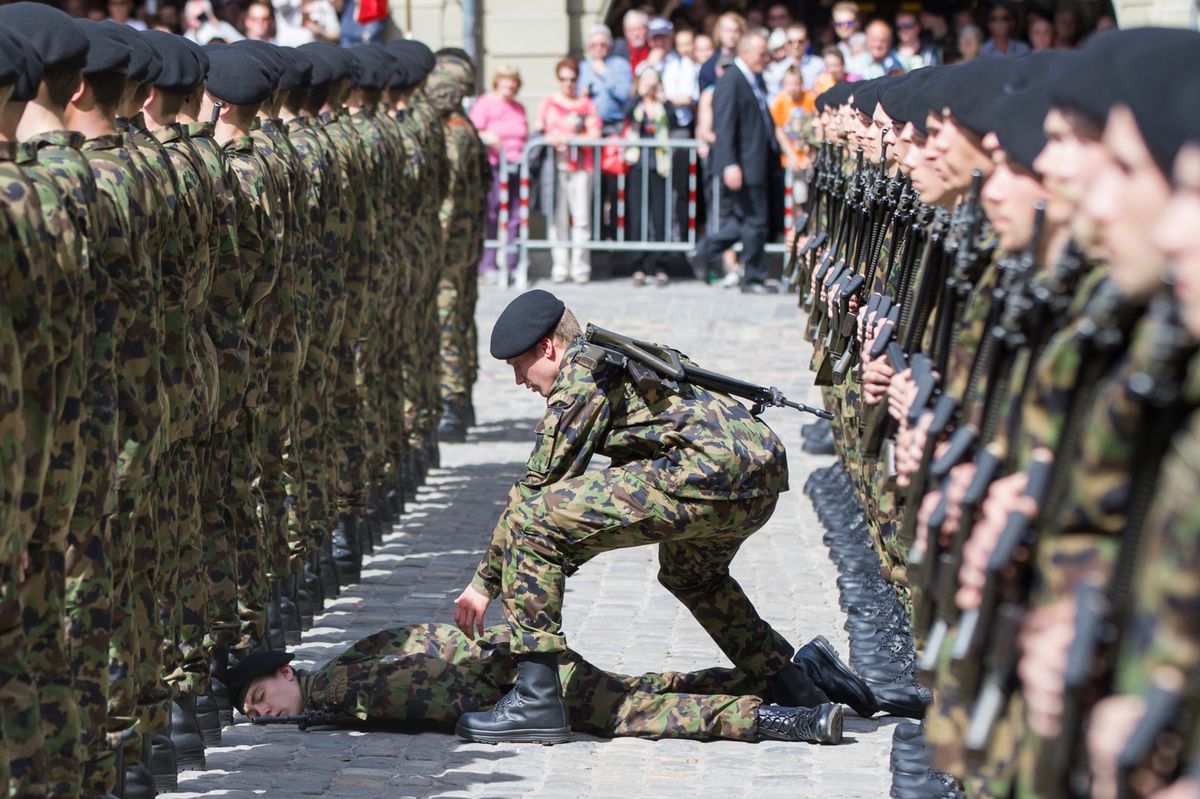
[[[1043,738],[1055,738],[1062,729],[1067,654],[1074,639],[1073,599],[1034,608],[1021,621],[1016,672],[1025,686],[1030,729]]]

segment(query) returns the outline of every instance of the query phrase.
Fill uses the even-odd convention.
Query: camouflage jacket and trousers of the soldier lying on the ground
[[[506,627],[478,641],[454,625],[383,630],[360,641],[308,681],[308,702],[359,717],[452,726],[496,704],[516,680]],[[384,668],[380,665],[385,663]],[[600,737],[755,740],[766,686],[737,669],[629,677],[568,650],[559,678],[571,727]]]

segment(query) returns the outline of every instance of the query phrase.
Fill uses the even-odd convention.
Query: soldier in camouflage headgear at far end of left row
[[[425,92],[442,116],[445,130],[445,199],[442,229],[445,253],[438,277],[438,320],[442,330],[442,421],[438,437],[464,440],[472,423],[470,390],[478,368],[475,352],[475,296],[479,292],[475,265],[482,253],[484,203],[491,190],[491,168],[485,169],[487,150],[462,101],[475,90],[475,68],[454,52],[438,55],[437,66],[426,80]]]

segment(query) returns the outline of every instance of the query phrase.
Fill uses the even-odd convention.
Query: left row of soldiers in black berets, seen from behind
[[[0,7],[0,785],[152,797],[469,417],[461,50]],[[451,435],[461,434],[461,423]],[[157,786],[156,786],[157,781]]]

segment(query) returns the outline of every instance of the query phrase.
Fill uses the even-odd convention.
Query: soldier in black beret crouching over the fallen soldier
[[[456,600],[460,629],[481,630],[488,602],[502,596],[512,651],[522,659],[514,690],[557,696],[542,681],[554,679],[566,648],[566,576],[601,552],[659,543],[659,582],[736,667],[769,680],[787,704],[814,705],[828,695],[872,714],[869,689],[832,650],[811,667],[792,663],[792,647],[730,576],[738,548],[787,489],[787,459],[775,434],[727,396],[653,374],[635,379],[578,335],[575,316],[540,290],[514,300],[492,332],[493,358],[512,366],[517,384],[545,396],[547,410],[526,476],[509,494],[475,578]],[[584,474],[595,453],[610,456],[612,465]],[[526,707],[533,710],[508,714],[500,703],[491,714],[467,714],[460,732],[528,740],[534,719],[560,717],[552,704]],[[554,738],[547,732],[546,740]]]

